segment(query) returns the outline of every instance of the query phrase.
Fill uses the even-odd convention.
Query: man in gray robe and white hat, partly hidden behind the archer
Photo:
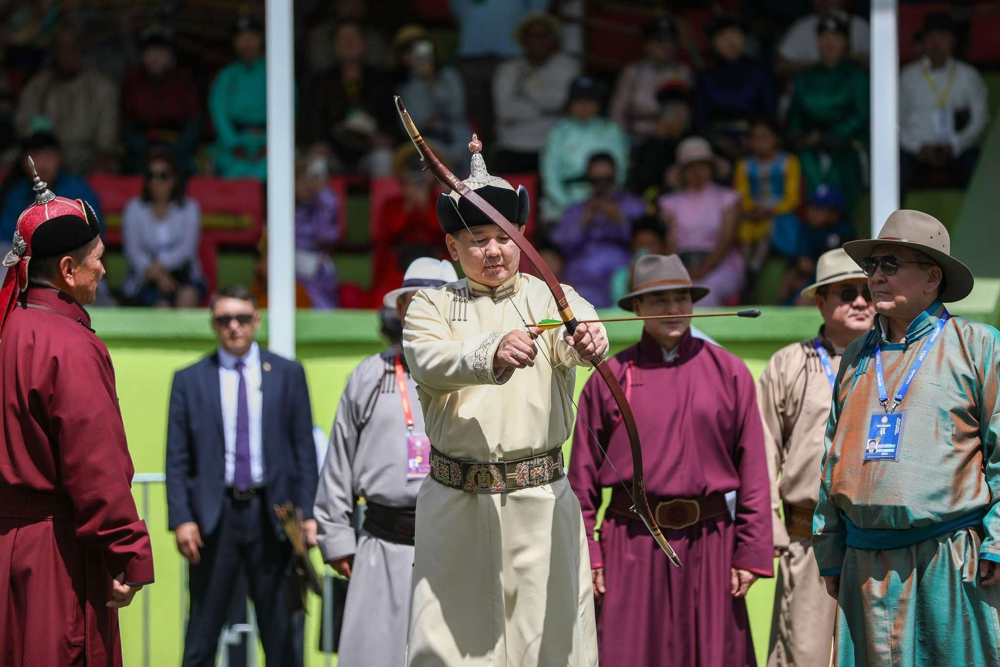
[[[455,280],[451,262],[419,257],[383,305],[402,321],[418,290]],[[416,402],[417,384],[393,345],[351,372],[330,428],[314,513],[323,560],[351,580],[337,648],[344,667],[406,662],[417,491],[430,470],[430,441]],[[359,497],[365,522],[355,535]]]

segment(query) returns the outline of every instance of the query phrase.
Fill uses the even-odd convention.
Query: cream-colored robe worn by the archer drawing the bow
[[[563,289],[577,318],[596,318],[590,304]],[[533,367],[493,372],[507,333],[523,331],[524,321],[557,317],[548,287],[528,275],[495,289],[462,279],[417,292],[403,349],[427,435],[439,451],[471,461],[512,460],[566,441],[582,361],[562,340],[564,329],[538,338]],[[597,665],[590,557],[580,504],[565,477],[503,494],[424,481],[407,664]]]

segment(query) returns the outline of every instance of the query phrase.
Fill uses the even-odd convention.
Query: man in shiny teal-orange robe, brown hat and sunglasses
[[[1000,332],[945,308],[973,285],[950,246],[919,211],[844,245],[878,314],[840,362],[813,518],[841,667],[1000,664]]]

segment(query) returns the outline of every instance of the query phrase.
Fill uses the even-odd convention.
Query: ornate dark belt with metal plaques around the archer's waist
[[[566,474],[562,447],[513,461],[463,461],[431,447],[431,478],[469,493],[506,493],[551,484]]]

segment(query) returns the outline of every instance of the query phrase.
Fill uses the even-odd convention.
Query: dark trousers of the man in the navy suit
[[[201,562],[191,565],[191,610],[184,640],[185,667],[212,667],[219,633],[233,605],[242,571],[257,614],[268,667],[301,667],[302,636],[288,607],[284,572],[288,542],[274,534],[260,494],[249,500],[223,499],[219,525],[203,535]]]

